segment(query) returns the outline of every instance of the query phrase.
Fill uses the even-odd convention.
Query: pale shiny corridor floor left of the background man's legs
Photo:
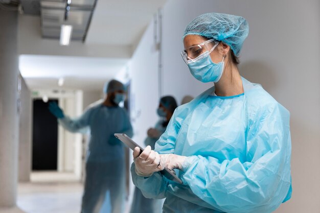
[[[27,213],[80,212],[82,184],[68,174],[33,174],[18,186],[17,206]]]

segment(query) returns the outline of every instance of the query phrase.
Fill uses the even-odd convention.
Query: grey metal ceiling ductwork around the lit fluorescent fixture
[[[3,1],[3,0],[0,0]],[[73,27],[72,41],[84,41],[97,0],[21,0],[24,14],[41,16],[43,38],[60,39],[61,26]]]

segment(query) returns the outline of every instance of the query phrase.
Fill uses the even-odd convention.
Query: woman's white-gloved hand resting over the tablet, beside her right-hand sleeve
[[[187,167],[187,164],[185,163],[186,159],[186,156],[176,154],[161,154],[158,169],[164,170],[165,167],[171,171],[173,171],[173,169],[185,169]]]

